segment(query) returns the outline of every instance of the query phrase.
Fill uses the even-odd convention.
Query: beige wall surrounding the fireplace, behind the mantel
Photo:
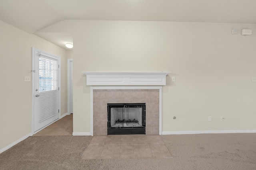
[[[256,34],[232,35],[234,28],[256,25],[66,20],[42,31],[74,35],[74,132],[90,132],[82,71],[171,72],[163,88],[165,132],[256,130]]]

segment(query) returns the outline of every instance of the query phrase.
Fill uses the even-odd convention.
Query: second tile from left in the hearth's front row
[[[100,158],[101,159],[119,158],[119,154],[120,154],[120,145],[104,145]]]

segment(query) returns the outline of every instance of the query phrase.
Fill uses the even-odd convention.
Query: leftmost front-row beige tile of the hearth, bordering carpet
[[[82,155],[82,159],[97,159],[100,158],[100,154],[102,152],[103,145],[100,146],[92,146],[88,145],[84,154]]]

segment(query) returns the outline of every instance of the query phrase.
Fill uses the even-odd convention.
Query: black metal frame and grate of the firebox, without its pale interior
[[[141,121],[138,119],[123,119],[114,120],[115,123],[129,124],[138,123],[140,125],[135,126],[112,126],[111,125],[111,110],[112,108],[142,108]],[[146,103],[108,103],[107,104],[107,134],[108,135],[133,135],[133,134],[146,134]],[[113,120],[112,120],[113,121]],[[113,124],[113,122],[112,122]]]

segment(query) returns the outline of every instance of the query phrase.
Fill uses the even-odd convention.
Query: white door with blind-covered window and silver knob
[[[59,59],[34,51],[34,132],[59,118]]]

